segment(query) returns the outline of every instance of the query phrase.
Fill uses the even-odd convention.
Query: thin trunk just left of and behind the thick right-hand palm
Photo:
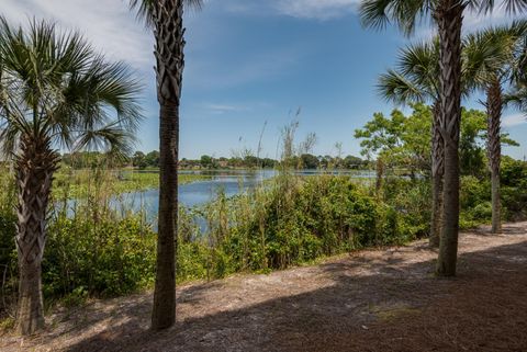
[[[429,246],[438,248],[441,237],[442,223],[442,174],[445,159],[445,143],[441,137],[440,102],[433,106],[433,130],[431,130],[431,224]]]

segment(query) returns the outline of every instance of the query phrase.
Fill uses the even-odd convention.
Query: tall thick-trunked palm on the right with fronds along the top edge
[[[440,129],[445,144],[444,222],[436,273],[456,274],[459,232],[459,133],[461,120],[461,27],[463,12],[487,12],[493,0],[363,0],[360,7],[367,26],[383,27],[393,21],[407,35],[419,19],[437,26],[440,53]],[[508,12],[527,10],[526,0],[505,0]]]

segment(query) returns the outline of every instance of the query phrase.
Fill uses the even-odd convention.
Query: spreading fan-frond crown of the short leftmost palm
[[[2,139],[10,138],[5,148],[22,135],[72,147],[87,145],[79,139],[91,134],[104,135],[106,147],[121,149],[127,141],[119,137],[132,140],[142,120],[139,91],[126,65],[109,63],[78,33],[36,20],[24,31],[0,18],[0,129]]]

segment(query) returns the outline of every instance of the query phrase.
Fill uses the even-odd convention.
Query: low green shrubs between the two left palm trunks
[[[48,229],[44,294],[74,299],[79,287],[97,296],[146,287],[154,281],[155,249],[155,234],[138,217],[81,214],[69,218],[63,213]]]

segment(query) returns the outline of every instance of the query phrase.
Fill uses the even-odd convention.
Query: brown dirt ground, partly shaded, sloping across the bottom
[[[14,351],[527,351],[527,223],[460,236],[458,276],[417,241],[269,275],[178,287],[178,322],[148,330],[152,294],[57,310]]]

